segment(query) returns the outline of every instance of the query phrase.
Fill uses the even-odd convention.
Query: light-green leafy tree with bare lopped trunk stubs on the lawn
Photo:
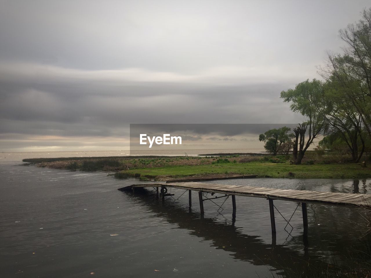
[[[284,102],[290,102],[290,109],[293,112],[301,113],[308,118],[304,123],[299,124],[295,129],[295,140],[293,145],[293,160],[295,164],[301,164],[306,150],[313,143],[315,138],[325,129],[326,102],[324,99],[324,86],[320,80],[307,79],[296,85],[295,89],[288,89],[281,92]],[[308,131],[308,139],[305,141],[305,134]]]

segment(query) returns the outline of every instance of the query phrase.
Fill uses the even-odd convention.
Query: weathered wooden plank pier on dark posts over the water
[[[144,183],[134,184],[120,188],[119,190],[135,190],[135,188],[146,188],[152,187],[161,188],[161,198],[164,200],[166,196],[172,196],[174,194],[168,194],[167,188],[179,188],[188,190],[189,205],[192,205],[191,191],[198,191],[198,197],[200,202],[201,214],[204,214],[203,202],[206,200],[222,198],[226,196],[232,196],[233,205],[233,217],[236,216],[236,197],[235,196],[247,196],[265,198],[269,200],[269,211],[270,211],[270,222],[272,226],[272,233],[276,233],[275,225],[275,210],[273,200],[283,200],[291,202],[299,202],[302,204],[302,215],[303,215],[303,228],[304,235],[308,232],[308,216],[306,211],[307,203],[315,203],[322,205],[336,205],[336,206],[351,206],[351,207],[362,207],[371,208],[371,194],[356,194],[356,193],[337,193],[337,192],[320,192],[320,191],[308,191],[308,190],[293,190],[293,189],[275,189],[257,186],[245,186],[245,185],[223,185],[215,183],[202,183],[202,182],[177,182],[177,183]],[[216,196],[213,198],[204,199],[203,193],[220,193],[223,196]],[[287,221],[287,220],[286,220]]]

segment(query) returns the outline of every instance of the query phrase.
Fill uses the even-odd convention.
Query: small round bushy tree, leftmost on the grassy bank
[[[263,141],[265,143],[264,148],[267,152],[277,155],[278,148],[283,143],[290,141],[292,137],[291,134],[288,132],[291,129],[283,126],[282,128],[274,128],[266,131],[264,134],[259,135],[259,141]]]

